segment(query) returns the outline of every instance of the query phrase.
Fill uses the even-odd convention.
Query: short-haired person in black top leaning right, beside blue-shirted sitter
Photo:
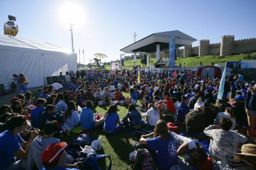
[[[40,123],[41,123],[41,126],[39,129],[43,128],[45,123],[47,121],[61,121],[61,119],[63,118],[63,115],[62,116],[55,116],[53,115],[53,111],[54,111],[54,107],[52,105],[47,105],[45,107],[45,111],[43,112],[43,114],[41,115],[41,118],[40,118]]]

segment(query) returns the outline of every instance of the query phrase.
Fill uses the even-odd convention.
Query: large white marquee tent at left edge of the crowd
[[[76,53],[47,42],[0,35],[0,84],[10,88],[13,74],[24,73],[28,87],[43,86],[46,77],[77,70]]]

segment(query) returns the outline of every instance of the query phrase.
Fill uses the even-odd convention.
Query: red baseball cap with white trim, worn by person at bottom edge
[[[53,143],[47,146],[42,153],[42,163],[44,166],[52,165],[55,160],[60,157],[62,151],[67,146],[66,142],[60,142],[59,144]]]

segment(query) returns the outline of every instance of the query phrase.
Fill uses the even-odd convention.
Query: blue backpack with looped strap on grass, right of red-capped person
[[[84,168],[87,170],[100,170],[100,166],[97,163],[98,159],[101,158],[105,158],[108,157],[109,158],[109,166],[107,168],[107,170],[110,170],[112,167],[112,161],[111,161],[111,157],[108,155],[98,155],[98,154],[93,154],[93,153],[89,153],[86,157],[86,159],[84,160]]]

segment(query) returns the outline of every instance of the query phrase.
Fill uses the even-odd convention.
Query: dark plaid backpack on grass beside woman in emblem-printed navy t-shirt
[[[154,170],[155,162],[147,149],[138,149],[133,170]]]

